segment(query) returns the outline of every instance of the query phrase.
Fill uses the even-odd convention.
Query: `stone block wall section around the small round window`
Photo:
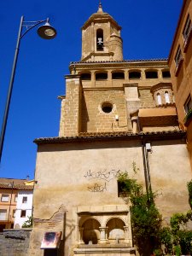
[[[113,104],[111,113],[102,111],[102,104]],[[119,123],[115,121],[119,116]],[[123,90],[84,90],[82,131],[127,131],[125,94]]]

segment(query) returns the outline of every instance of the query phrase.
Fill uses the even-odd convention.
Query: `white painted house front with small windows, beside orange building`
[[[17,206],[15,211],[15,229],[20,229],[24,222],[28,220],[28,217],[32,216],[32,190],[25,190],[25,191],[19,191],[18,193],[18,199],[17,199]],[[27,201],[23,203],[23,197],[27,197]],[[21,218],[20,213],[22,210],[26,210],[26,217]]]

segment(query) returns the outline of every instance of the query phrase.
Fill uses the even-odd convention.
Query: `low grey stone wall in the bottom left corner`
[[[32,229],[3,230],[0,233],[1,256],[26,256]]]

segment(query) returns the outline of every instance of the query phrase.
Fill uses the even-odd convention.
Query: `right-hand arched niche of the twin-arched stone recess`
[[[119,241],[125,240],[125,221],[122,218],[109,218],[106,226],[110,243],[119,243]]]

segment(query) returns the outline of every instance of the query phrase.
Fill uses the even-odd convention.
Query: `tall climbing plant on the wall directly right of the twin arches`
[[[149,255],[160,244],[161,215],[154,204],[156,195],[143,192],[143,186],[127,172],[119,175],[131,201],[131,224],[134,242],[140,255]]]

